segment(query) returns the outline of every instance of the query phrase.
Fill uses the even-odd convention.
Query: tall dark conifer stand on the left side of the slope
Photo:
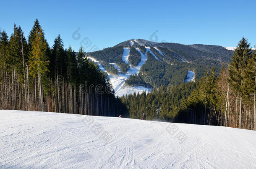
[[[96,63],[64,49],[60,35],[52,48],[38,20],[24,37],[14,25],[0,34],[0,109],[117,116],[123,111]]]

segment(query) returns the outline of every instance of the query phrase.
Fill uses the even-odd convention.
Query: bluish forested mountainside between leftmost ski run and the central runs
[[[86,53],[86,55],[95,58],[100,61],[105,70],[109,73],[118,74],[118,70],[109,63],[116,63],[120,68],[121,73],[126,73],[130,67],[127,63],[122,60],[123,47],[105,48],[103,50]]]

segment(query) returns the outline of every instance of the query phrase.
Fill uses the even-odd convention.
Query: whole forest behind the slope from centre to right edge
[[[229,66],[214,66],[195,83],[160,86],[120,98],[131,118],[256,130],[256,51],[239,41]]]

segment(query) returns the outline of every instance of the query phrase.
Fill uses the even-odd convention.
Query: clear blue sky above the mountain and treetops
[[[60,33],[65,48],[76,51],[86,37],[91,41],[86,51],[132,38],[236,46],[245,36],[256,45],[255,0],[1,0],[0,27],[9,36],[16,23],[27,37],[36,18],[50,46]],[[81,38],[74,40],[78,28]],[[156,30],[158,39],[150,38]]]

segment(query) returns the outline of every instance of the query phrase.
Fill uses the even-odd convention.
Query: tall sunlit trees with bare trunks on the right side
[[[219,77],[214,69],[183,101],[179,119],[195,124],[256,129],[256,53],[248,41],[239,41],[228,68]],[[192,116],[187,119],[186,116]],[[185,117],[185,118],[184,118]]]

